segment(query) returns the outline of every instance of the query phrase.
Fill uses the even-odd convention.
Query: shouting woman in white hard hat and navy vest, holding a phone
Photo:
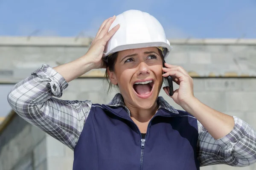
[[[84,56],[55,68],[43,65],[15,85],[8,101],[23,119],[74,150],[74,170],[198,170],[255,162],[252,127],[196,99],[183,68],[163,67],[170,50],[154,17],[125,11],[102,23]],[[120,90],[108,105],[53,98],[94,68],[106,68]],[[180,85],[170,97],[185,111],[158,96],[168,76]],[[164,91],[169,96],[169,88]]]

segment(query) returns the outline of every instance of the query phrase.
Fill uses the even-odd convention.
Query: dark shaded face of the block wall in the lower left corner
[[[0,170],[45,170],[45,133],[19,116],[0,134]]]

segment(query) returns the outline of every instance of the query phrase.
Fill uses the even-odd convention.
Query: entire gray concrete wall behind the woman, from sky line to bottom
[[[4,44],[0,37],[0,68],[2,69],[0,82],[16,83],[29,76],[41,64],[54,67],[85,54],[88,42],[73,41],[73,39],[65,38],[32,38],[32,40],[11,38],[5,39]],[[173,44],[173,51],[166,62],[183,66],[194,77],[195,96],[210,107],[229,115],[239,116],[256,128],[256,41],[170,40],[170,42]],[[101,78],[81,78],[69,84],[61,99],[90,99],[94,103],[108,103],[118,92],[118,89],[114,89],[106,95],[108,86]],[[175,108],[181,109],[166,96],[163,90],[160,96],[163,96]],[[20,124],[23,126],[19,127]],[[29,133],[33,130],[34,133]],[[38,134],[43,136],[40,140],[36,137]],[[28,139],[24,136],[37,140],[27,142]],[[22,149],[23,147],[26,149]],[[22,122],[20,118],[15,118],[11,125],[0,134],[0,148],[1,170],[2,167],[6,167],[3,170],[16,170],[16,167],[22,170],[19,164],[27,165],[27,167],[34,164],[32,167],[38,167],[38,169],[42,166],[47,167],[47,170],[70,170],[73,163],[73,153],[69,148],[52,137],[44,135],[36,127]],[[37,158],[36,150],[40,148],[45,148],[45,150],[40,154],[41,157]],[[256,165],[244,168],[214,165],[201,169],[256,170]]]

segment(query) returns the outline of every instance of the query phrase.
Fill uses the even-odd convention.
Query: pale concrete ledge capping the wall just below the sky
[[[90,46],[93,37],[0,37],[0,45]],[[256,39],[169,39],[171,44],[256,45]]]

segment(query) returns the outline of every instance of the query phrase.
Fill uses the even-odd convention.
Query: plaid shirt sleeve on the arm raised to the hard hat
[[[92,103],[61,100],[68,83],[49,65],[17,83],[8,94],[12,109],[32,125],[74,149]]]

